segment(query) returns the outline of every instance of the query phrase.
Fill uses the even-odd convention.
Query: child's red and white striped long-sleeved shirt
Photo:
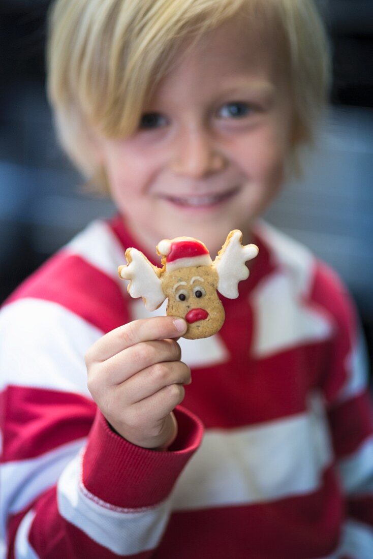
[[[300,244],[263,222],[254,242],[220,332],[180,340],[193,382],[167,452],[112,432],[87,390],[88,347],[150,316],[117,277],[136,246],[119,217],[6,301],[0,557],[373,557],[372,408],[351,302]]]

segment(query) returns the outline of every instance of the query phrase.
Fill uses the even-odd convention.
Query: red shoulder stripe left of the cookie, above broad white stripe
[[[23,297],[58,303],[105,333],[129,320],[123,293],[114,279],[67,250],[50,258],[6,304]]]

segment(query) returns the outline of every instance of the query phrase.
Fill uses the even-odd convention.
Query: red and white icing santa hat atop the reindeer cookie
[[[191,237],[163,239],[158,243],[157,251],[166,257],[168,272],[187,266],[211,266],[213,263],[204,243]]]

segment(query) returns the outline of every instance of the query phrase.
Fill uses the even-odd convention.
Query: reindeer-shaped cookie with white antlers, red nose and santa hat
[[[126,250],[127,266],[119,266],[119,277],[129,280],[131,297],[143,297],[154,311],[168,299],[168,316],[185,319],[187,339],[207,338],[223,326],[225,313],[218,291],[228,299],[238,297],[238,282],[249,276],[245,266],[258,254],[254,244],[242,245],[242,233],[231,231],[214,262],[201,241],[191,237],[164,239],[157,245],[162,268],[153,266],[135,248]]]

